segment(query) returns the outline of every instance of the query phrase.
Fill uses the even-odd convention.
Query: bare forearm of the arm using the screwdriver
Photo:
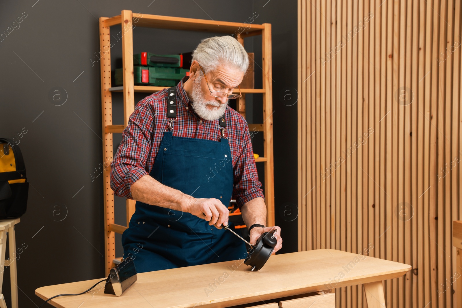
[[[181,191],[165,186],[150,175],[142,176],[130,186],[133,199],[176,211],[186,211],[193,198]]]

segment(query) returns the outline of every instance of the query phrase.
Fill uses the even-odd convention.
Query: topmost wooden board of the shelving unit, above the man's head
[[[151,14],[132,13],[133,23],[137,27],[173,29],[173,30],[188,30],[188,31],[204,31],[212,33],[228,33],[242,32],[249,36],[255,32],[255,35],[261,34],[261,30],[265,28],[262,24],[250,23],[233,23],[228,21],[216,21],[196,18],[183,18],[173,16],[160,16]],[[122,23],[121,15],[103,20],[103,26],[109,27]],[[241,31],[242,30],[242,31]],[[254,33],[252,33],[254,34]]]

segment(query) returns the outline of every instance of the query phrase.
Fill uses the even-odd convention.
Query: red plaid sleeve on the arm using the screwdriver
[[[146,161],[151,150],[154,110],[148,100],[140,101],[122,133],[122,143],[111,163],[110,186],[119,197],[133,199],[131,185],[148,175]]]

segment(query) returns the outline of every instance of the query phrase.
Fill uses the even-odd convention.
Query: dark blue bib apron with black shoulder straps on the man
[[[169,93],[175,91],[172,89]],[[227,208],[233,188],[228,140],[177,137],[166,130],[149,175],[194,198],[219,199]],[[128,226],[122,234],[124,258],[134,259],[137,272],[238,260],[247,255],[237,236],[182,211],[136,201]],[[231,223],[230,228],[234,229]]]

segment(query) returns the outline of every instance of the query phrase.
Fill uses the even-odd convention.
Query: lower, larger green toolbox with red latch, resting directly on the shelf
[[[122,73],[122,68],[116,69],[114,76],[116,85],[123,85]],[[176,85],[188,73],[189,70],[184,68],[147,66],[133,67],[133,78],[135,85],[171,87]]]

